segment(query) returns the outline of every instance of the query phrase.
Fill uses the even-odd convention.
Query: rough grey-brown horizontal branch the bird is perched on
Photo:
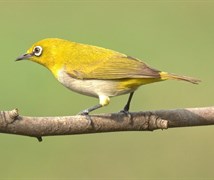
[[[113,113],[86,116],[27,117],[18,110],[0,111],[0,133],[36,137],[115,131],[153,131],[175,127],[214,125],[214,107]]]

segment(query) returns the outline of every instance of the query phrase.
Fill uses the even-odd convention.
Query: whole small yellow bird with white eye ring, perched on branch
[[[80,114],[106,106],[110,97],[130,94],[122,110],[128,113],[132,96],[144,84],[176,79],[197,84],[199,80],[162,72],[125,54],[58,38],[43,39],[16,60],[28,59],[48,68],[65,87],[99,98],[99,104]]]

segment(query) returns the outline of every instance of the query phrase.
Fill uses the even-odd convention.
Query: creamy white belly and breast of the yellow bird
[[[93,97],[99,97],[102,95],[109,97],[118,96],[133,91],[133,89],[119,90],[119,80],[75,79],[65,73],[64,70],[60,70],[58,72],[57,79],[70,90]]]

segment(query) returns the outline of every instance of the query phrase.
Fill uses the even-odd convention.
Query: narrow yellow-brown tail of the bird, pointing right
[[[195,79],[193,77],[188,77],[188,76],[180,76],[172,73],[167,73],[167,72],[160,72],[161,79],[167,80],[167,79],[176,79],[176,80],[181,80],[181,81],[187,81],[193,84],[198,84],[201,82],[199,79]]]

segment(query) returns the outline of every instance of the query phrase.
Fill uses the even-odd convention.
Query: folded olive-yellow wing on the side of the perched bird
[[[138,59],[124,55],[87,61],[86,64],[76,68],[68,68],[66,72],[77,79],[160,78],[160,71],[150,68]]]

